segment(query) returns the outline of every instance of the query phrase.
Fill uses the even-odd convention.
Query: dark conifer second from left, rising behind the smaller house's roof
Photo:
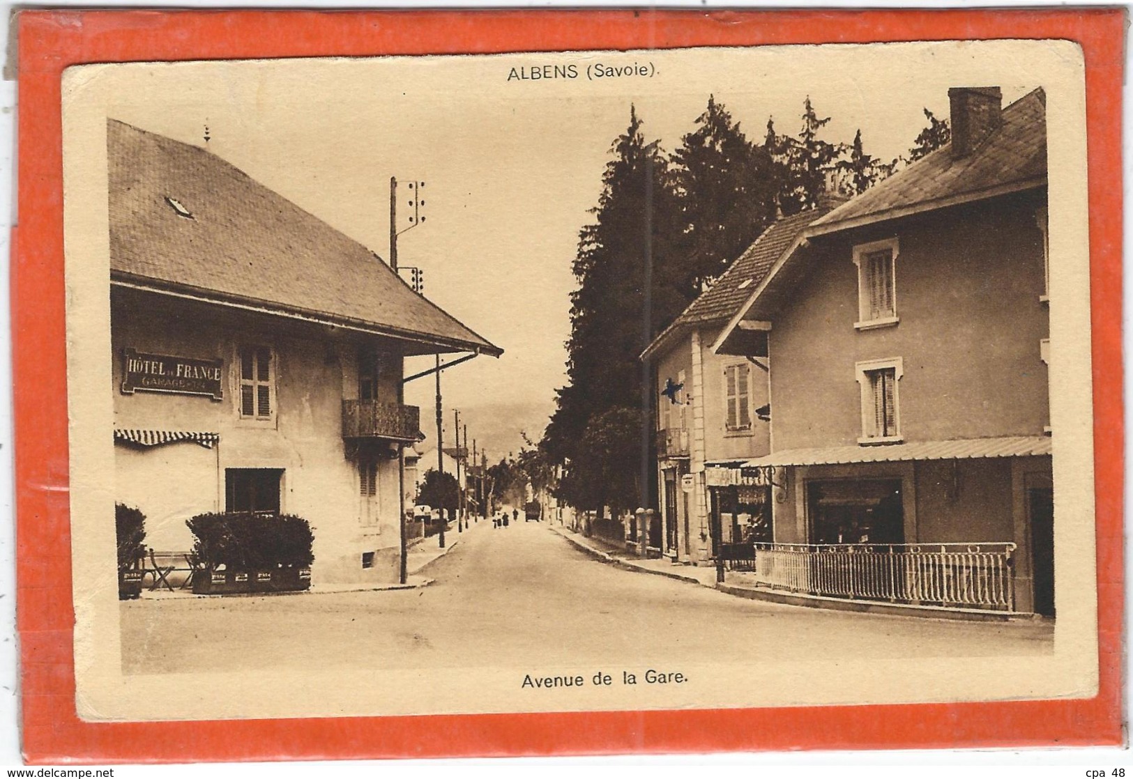
[[[682,291],[700,292],[775,219],[770,153],[715,97],[673,153],[683,241]]]

